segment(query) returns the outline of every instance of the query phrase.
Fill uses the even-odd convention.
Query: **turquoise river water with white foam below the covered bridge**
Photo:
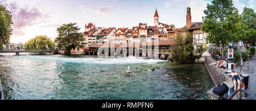
[[[135,57],[0,55],[5,99],[208,99],[207,91],[214,87],[203,64],[171,65]]]

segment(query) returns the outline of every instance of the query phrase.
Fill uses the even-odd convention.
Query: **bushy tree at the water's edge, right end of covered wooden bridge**
[[[175,42],[171,48],[172,59],[177,63],[194,63],[193,33],[182,31],[175,37]]]

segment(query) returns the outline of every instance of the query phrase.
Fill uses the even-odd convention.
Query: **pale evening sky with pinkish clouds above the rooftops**
[[[62,24],[77,23],[84,26],[132,28],[139,23],[154,25],[157,8],[159,22],[186,24],[187,7],[191,7],[192,22],[202,22],[204,10],[212,0],[0,0],[13,15],[13,35],[10,42],[27,42],[38,35],[55,40],[56,29]],[[233,0],[240,14],[243,7],[256,11],[255,0]]]

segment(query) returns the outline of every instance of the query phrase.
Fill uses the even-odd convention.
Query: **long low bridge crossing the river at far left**
[[[0,53],[58,53],[56,49],[14,49],[14,50],[0,50]]]

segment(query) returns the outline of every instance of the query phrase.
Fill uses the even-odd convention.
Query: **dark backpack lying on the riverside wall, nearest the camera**
[[[213,92],[216,93],[218,96],[223,96],[225,93],[228,93],[229,87],[226,86],[225,83],[218,84],[216,87],[213,88]]]

